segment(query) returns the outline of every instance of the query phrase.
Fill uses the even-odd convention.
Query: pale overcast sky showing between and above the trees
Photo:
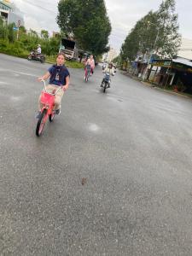
[[[49,32],[59,31],[55,17],[58,0],[12,0],[24,14],[26,28]],[[112,24],[110,45],[119,50],[126,35],[143,15],[158,9],[162,0],[106,0],[108,15]],[[192,39],[192,1],[176,0],[180,33],[183,38]]]

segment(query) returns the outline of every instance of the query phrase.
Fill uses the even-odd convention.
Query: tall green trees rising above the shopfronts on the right
[[[177,14],[175,14],[175,0],[165,0],[156,11],[150,11],[125,38],[121,47],[123,61],[133,61],[137,54],[155,54],[160,57],[177,55],[181,36],[178,33]]]

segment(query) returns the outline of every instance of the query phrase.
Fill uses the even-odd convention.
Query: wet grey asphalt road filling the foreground
[[[192,101],[72,69],[38,138],[47,67],[0,55],[0,255],[192,255]]]

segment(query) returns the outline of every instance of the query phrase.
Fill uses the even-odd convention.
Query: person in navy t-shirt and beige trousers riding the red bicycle
[[[61,113],[61,99],[64,95],[64,91],[68,89],[69,82],[70,82],[70,73],[65,67],[65,55],[64,53],[59,53],[56,58],[56,64],[52,67],[49,67],[48,72],[44,74],[44,76],[38,78],[38,81],[41,82],[42,80],[49,79],[49,85],[46,86],[47,90],[57,90],[58,86],[61,86],[61,90],[57,92],[55,95],[55,113]],[[36,118],[38,119],[41,115],[41,96],[38,99],[38,114]]]

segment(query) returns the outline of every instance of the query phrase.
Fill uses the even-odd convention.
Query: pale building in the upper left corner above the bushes
[[[5,24],[15,23],[16,26],[24,26],[23,15],[14,3],[9,0],[0,0],[0,16]]]

